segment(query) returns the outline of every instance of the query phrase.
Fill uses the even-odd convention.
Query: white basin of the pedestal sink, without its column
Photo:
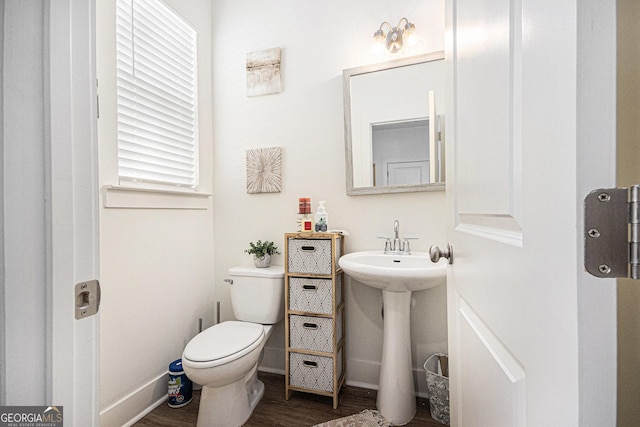
[[[364,285],[392,292],[421,291],[443,285],[447,261],[431,262],[426,252],[391,255],[383,251],[352,252],[338,264],[347,275]]]

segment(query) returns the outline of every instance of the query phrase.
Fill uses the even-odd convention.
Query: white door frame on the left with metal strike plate
[[[48,26],[50,399],[70,425],[97,426],[99,313],[76,320],[74,306],[75,284],[99,278],[95,0],[51,1]]]

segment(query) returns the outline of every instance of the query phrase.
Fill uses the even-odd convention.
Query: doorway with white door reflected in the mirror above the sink
[[[429,119],[371,125],[373,185],[429,183]]]

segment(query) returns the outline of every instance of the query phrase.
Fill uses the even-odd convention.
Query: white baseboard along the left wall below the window
[[[131,426],[167,400],[168,373],[144,384],[100,411],[102,426]]]

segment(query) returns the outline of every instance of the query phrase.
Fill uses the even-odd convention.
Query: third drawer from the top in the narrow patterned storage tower
[[[336,317],[336,343],[342,339],[342,314]],[[327,317],[289,316],[289,347],[300,350],[333,352],[333,319]]]

